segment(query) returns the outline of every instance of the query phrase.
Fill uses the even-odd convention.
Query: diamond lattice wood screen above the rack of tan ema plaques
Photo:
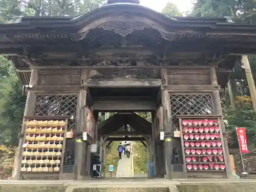
[[[68,129],[75,129],[76,95],[37,95],[35,116],[70,116]]]

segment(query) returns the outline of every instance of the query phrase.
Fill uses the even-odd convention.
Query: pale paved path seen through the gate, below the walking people
[[[133,156],[127,158],[122,154],[122,159],[118,161],[116,177],[117,178],[131,178],[134,175]]]

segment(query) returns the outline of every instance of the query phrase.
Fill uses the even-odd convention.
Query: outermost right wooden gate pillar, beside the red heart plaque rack
[[[212,85],[218,85],[218,80],[217,80],[217,74],[216,74],[216,69],[211,68],[210,69],[210,81]],[[215,105],[215,115],[223,115],[222,113],[222,107],[221,107],[221,98],[220,98],[220,92],[219,90],[214,90],[212,93],[212,97],[214,100],[214,105]],[[223,117],[221,118],[221,131],[222,133],[225,132],[225,124]],[[223,138],[223,154],[224,154],[224,161],[226,162],[226,173],[227,173],[227,178],[230,178],[232,176],[232,170],[231,170],[231,165],[230,165],[230,159],[229,159],[229,151],[228,151],[228,145],[227,145],[227,138]]]

